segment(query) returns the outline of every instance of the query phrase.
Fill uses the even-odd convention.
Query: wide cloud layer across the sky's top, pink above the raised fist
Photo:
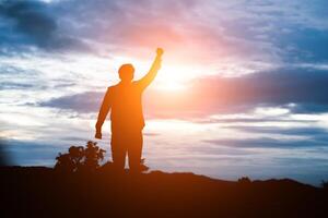
[[[2,1],[0,44],[7,47],[0,53],[32,45],[134,55],[161,45],[174,53],[172,59],[211,64],[219,59],[271,64],[326,61],[325,5],[325,1],[255,0]]]

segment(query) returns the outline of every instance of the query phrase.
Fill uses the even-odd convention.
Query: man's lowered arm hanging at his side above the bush
[[[103,104],[101,106],[101,110],[98,113],[98,119],[96,122],[96,134],[95,134],[95,138],[99,138],[102,140],[102,126],[103,123],[105,122],[105,119],[109,112],[109,109],[112,107],[112,99],[110,99],[110,93],[109,93],[109,88],[107,89],[104,99],[103,99]]]

